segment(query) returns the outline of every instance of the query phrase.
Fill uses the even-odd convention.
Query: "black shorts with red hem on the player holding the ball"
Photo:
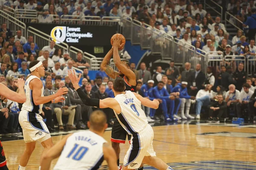
[[[118,122],[116,119],[114,121],[112,132],[111,132],[111,142],[116,143],[125,143],[126,136],[128,136],[128,141],[130,143],[131,141],[131,135],[129,135],[125,129],[122,127],[122,125]]]

